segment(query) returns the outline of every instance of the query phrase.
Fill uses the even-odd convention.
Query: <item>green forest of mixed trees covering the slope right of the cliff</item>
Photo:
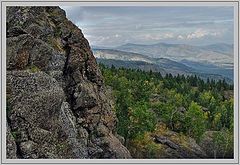
[[[117,133],[134,158],[161,157],[151,137],[166,130],[175,132],[181,144],[186,137],[200,144],[211,131],[213,157],[233,156],[232,84],[99,65],[115,98]]]

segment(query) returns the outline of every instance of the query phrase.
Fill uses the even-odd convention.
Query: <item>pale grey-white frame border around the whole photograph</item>
[[[7,159],[6,6],[233,6],[234,159]],[[81,27],[80,27],[81,28]],[[1,164],[239,164],[239,1],[1,1]]]

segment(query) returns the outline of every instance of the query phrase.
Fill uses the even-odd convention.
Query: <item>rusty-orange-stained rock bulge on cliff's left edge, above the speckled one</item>
[[[60,69],[64,64],[64,55],[57,55],[45,42],[30,34],[7,38],[7,69],[26,69],[36,66],[41,70]]]

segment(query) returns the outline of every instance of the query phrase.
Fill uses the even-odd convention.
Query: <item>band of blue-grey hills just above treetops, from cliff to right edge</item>
[[[200,63],[182,59],[174,61],[167,58],[153,58],[139,53],[125,52],[113,49],[93,49],[97,61],[105,65],[115,67],[125,67],[141,69],[145,71],[152,70],[165,75],[198,75],[203,79],[223,79],[232,82],[233,69],[222,68],[213,64]]]

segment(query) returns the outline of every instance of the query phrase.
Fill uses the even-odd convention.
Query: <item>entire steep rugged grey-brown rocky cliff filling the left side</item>
[[[81,30],[59,7],[7,7],[7,158],[131,158]]]

